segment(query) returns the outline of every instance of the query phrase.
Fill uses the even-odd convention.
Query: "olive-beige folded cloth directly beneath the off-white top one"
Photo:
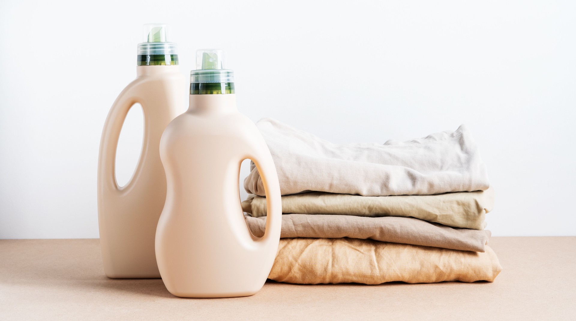
[[[285,214],[338,214],[367,217],[415,217],[455,228],[484,229],[484,217],[494,207],[494,188],[486,191],[435,195],[366,197],[310,192],[282,197]],[[242,210],[253,217],[266,216],[266,198],[251,195]]]

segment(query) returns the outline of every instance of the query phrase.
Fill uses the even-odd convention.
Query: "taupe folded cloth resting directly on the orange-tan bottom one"
[[[266,217],[246,217],[255,236],[263,236]],[[284,214],[280,237],[354,237],[393,243],[484,252],[490,231],[450,228],[412,217]]]

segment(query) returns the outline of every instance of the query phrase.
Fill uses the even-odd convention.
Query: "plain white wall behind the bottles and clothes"
[[[572,1],[3,0],[0,238],[98,237],[100,134],[146,22],[172,24],[184,74],[196,49],[226,48],[255,121],[334,142],[465,123],[497,191],[493,235],[576,235]]]

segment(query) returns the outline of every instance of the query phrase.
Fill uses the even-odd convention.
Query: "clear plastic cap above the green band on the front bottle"
[[[224,69],[225,54],[222,49],[196,51],[196,70],[190,71],[190,82],[234,82],[234,71]]]

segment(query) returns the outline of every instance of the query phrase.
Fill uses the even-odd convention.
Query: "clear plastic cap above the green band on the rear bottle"
[[[138,55],[176,55],[176,43],[170,42],[168,24],[145,24]]]

